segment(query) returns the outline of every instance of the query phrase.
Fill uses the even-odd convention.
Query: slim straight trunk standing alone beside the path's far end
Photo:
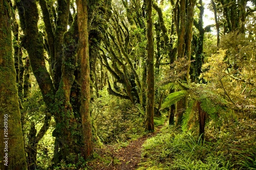
[[[152,0],[147,0],[147,59],[146,59],[146,115],[145,131],[154,131],[154,104],[155,104],[155,71],[154,71],[154,42],[152,21]]]

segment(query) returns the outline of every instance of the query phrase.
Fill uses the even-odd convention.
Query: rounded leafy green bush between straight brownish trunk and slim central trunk
[[[120,143],[137,138],[142,132],[143,111],[129,100],[99,91],[100,98],[92,103],[92,115],[103,143]],[[143,114],[142,114],[143,113]]]

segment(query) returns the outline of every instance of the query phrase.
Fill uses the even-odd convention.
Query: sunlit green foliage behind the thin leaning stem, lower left
[[[25,137],[25,147],[30,147],[28,141],[29,131],[31,124],[35,124],[37,134],[40,128],[44,125],[44,118],[47,112],[47,108],[42,100],[40,91],[33,90],[31,98],[29,100],[23,101],[23,109],[20,110],[22,114],[22,125],[23,125],[23,135]],[[52,137],[52,132],[54,120],[52,119],[51,126],[46,132],[44,137],[39,140],[37,145],[37,165],[42,169],[48,169],[52,165],[52,156],[54,150],[54,137]]]

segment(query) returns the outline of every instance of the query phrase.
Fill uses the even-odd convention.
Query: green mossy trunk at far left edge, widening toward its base
[[[0,1],[0,169],[27,169],[12,56],[10,1]]]

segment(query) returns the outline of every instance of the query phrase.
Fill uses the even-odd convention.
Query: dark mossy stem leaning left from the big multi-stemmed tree
[[[46,68],[44,56],[44,41],[41,33],[38,32],[37,22],[39,19],[36,2],[23,0],[24,16],[26,22],[25,47],[29,54],[29,61],[39,85],[43,99],[50,109],[54,103],[53,84]]]

